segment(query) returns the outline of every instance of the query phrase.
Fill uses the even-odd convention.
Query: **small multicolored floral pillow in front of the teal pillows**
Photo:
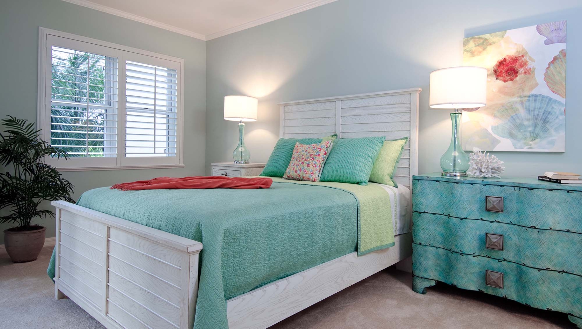
[[[332,143],[333,140],[311,145],[295,143],[291,162],[283,178],[293,179],[293,181],[319,182],[321,170],[324,168]]]

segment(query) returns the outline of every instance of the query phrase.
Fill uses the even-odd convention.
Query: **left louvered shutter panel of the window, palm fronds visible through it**
[[[51,49],[51,145],[70,157],[116,157],[117,58]]]

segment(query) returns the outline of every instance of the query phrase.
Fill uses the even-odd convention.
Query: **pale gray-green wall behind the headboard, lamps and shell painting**
[[[339,0],[207,42],[206,162],[229,161],[236,122],[223,97],[259,98],[247,124],[251,161],[279,137],[277,102],[421,87],[419,171],[439,171],[449,146],[448,111],[428,108],[432,70],[462,65],[463,38],[566,19],[566,153],[507,153],[507,176],[582,171],[582,2],[579,0]],[[545,66],[544,66],[545,67]]]

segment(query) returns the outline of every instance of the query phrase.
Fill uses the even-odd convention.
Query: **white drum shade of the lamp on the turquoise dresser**
[[[459,66],[431,72],[428,106],[475,108],[487,102],[487,69]]]

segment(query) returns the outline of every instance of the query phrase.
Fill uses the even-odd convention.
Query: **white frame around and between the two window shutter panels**
[[[76,34],[46,29],[38,29],[38,105],[37,105],[37,129],[41,129],[41,137],[48,143],[51,141],[51,104],[47,99],[47,90],[51,86],[51,63],[47,58],[47,40],[51,37],[61,37],[65,43],[69,43],[69,48],[77,47],[79,41],[98,45],[100,47],[111,48],[111,54],[118,52],[118,135],[117,135],[117,156],[116,157],[83,157],[69,158],[68,161],[63,159],[47,157],[45,162],[51,164],[60,171],[90,171],[90,170],[118,170],[118,169],[146,169],[146,168],[183,168],[184,167],[184,59],[157,54],[151,51],[145,51],[124,45],[109,43],[107,41],[96,40],[93,38],[77,36]],[[75,45],[77,44],[77,45]],[[66,44],[59,45],[68,47]],[[86,45],[88,48],[91,45]],[[77,47],[79,48],[79,47]],[[91,49],[83,48],[87,52]],[[145,57],[145,56],[148,56]],[[152,59],[153,57],[153,59]],[[176,156],[175,157],[126,157],[125,156],[125,65],[126,60],[135,60],[136,58],[148,59],[150,65],[175,63],[178,72],[178,104],[177,104],[177,125],[176,129]],[[154,62],[152,62],[152,60]],[[157,63],[155,63],[157,62]]]

